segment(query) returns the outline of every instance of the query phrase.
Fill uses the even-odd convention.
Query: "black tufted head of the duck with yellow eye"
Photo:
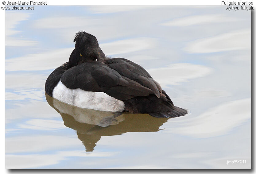
[[[80,31],[76,33],[74,42],[76,42],[75,49],[69,57],[69,64],[71,66],[76,66],[86,61],[104,59],[105,54],[100,49],[95,36],[85,31]]]

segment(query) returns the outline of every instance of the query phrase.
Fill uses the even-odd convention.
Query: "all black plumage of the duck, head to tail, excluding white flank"
[[[61,82],[70,89],[104,92],[125,103],[124,111],[148,113],[154,117],[179,117],[187,111],[173,105],[161,86],[140,65],[124,58],[106,58],[96,37],[77,33],[69,62],[55,69],[45,83],[52,96]],[[97,61],[96,61],[97,60]]]

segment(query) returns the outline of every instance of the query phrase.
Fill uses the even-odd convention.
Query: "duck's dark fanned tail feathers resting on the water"
[[[188,114],[188,111],[180,107],[175,106],[175,109],[169,112],[151,112],[149,115],[157,118],[174,118]]]

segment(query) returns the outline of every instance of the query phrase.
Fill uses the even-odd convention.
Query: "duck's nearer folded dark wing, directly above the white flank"
[[[131,66],[128,64],[127,67]],[[138,78],[143,77],[138,74],[136,76]],[[77,65],[75,68],[68,69],[62,75],[61,82],[70,89],[80,88],[85,91],[105,92],[119,100],[127,100],[136,96],[147,96],[155,93],[149,87],[129,77],[121,75],[109,64],[85,62]],[[145,77],[141,79],[145,83],[153,80]]]

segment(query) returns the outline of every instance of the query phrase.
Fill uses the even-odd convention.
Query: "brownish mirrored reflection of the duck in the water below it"
[[[157,132],[168,118],[148,114],[103,112],[68,105],[45,94],[52,108],[60,113],[64,125],[76,130],[87,152],[93,151],[101,136],[121,135],[126,132]]]

